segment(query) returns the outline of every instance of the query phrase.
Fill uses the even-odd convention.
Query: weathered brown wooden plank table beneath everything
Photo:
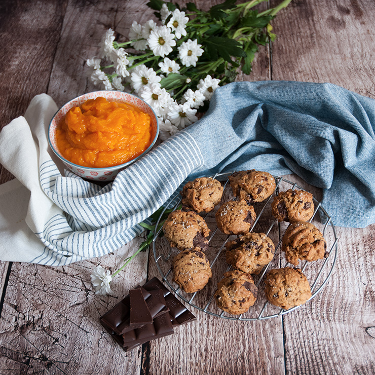
[[[1,126],[43,92],[57,105],[94,90],[85,60],[105,29],[127,35],[153,12],[146,1],[0,3]],[[197,1],[208,9],[214,0]],[[271,1],[270,6],[275,2]],[[375,98],[372,0],[294,0],[273,22],[278,39],[257,54],[243,80],[331,82]],[[12,179],[4,168],[0,182]],[[304,185],[319,198],[320,191]],[[93,293],[90,273],[116,270],[138,247],[67,267],[0,262],[0,374],[333,374],[375,373],[375,225],[337,228],[339,257],[313,301],[280,318],[237,322],[196,310],[173,336],[125,353],[98,318],[147,277],[140,253],[113,281],[114,296]],[[148,256],[148,258],[147,258]]]

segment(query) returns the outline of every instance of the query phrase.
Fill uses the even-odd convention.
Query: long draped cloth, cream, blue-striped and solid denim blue
[[[322,187],[333,222],[375,222],[375,101],[330,84],[233,83],[206,116],[103,188],[58,169],[46,132],[57,110],[36,96],[0,133],[0,259],[65,265],[115,251],[187,178],[255,168]],[[52,155],[52,157],[51,157]],[[25,220],[22,220],[25,218]],[[36,235],[36,236],[35,236]]]

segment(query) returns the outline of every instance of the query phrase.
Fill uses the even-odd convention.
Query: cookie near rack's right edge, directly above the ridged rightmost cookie
[[[289,189],[277,195],[271,207],[278,221],[308,221],[314,214],[313,195],[305,190]]]

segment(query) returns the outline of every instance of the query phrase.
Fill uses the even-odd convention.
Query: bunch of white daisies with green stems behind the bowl
[[[180,7],[151,0],[147,6],[156,19],[133,21],[127,36],[105,32],[99,57],[87,60],[91,80],[145,100],[165,140],[196,122],[219,86],[241,71],[249,74],[258,46],[275,40],[270,22],[291,0],[261,12],[254,8],[265,1],[226,0],[205,12],[193,3]],[[120,42],[124,37],[127,41]]]

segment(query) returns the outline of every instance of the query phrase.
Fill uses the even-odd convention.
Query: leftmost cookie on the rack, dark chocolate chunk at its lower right
[[[204,219],[194,211],[175,210],[171,212],[163,225],[164,236],[172,247],[179,250],[199,247],[205,249],[210,234]]]

